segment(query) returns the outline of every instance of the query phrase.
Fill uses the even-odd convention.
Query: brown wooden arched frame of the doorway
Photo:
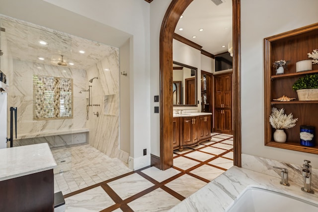
[[[172,38],[180,15],[193,0],[172,0],[162,21],[160,65],[160,169],[173,165],[172,148]],[[233,0],[234,165],[241,166],[240,125],[240,0]]]

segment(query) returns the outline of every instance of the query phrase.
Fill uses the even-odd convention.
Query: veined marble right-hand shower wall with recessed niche
[[[128,162],[129,153],[119,149],[119,49],[111,47],[108,55],[87,70],[92,83],[92,107],[89,108],[89,144],[109,157]],[[94,105],[99,106],[94,106]],[[94,113],[99,113],[97,117]]]

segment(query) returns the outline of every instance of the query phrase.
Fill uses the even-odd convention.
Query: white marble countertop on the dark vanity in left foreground
[[[48,143],[0,149],[0,181],[57,166]]]

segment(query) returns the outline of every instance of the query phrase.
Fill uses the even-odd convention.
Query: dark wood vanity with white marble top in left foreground
[[[47,143],[0,149],[0,211],[53,212],[54,167]]]

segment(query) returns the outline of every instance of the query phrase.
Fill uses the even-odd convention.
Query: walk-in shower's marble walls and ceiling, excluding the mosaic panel
[[[6,16],[0,18],[1,27],[6,28],[5,34],[1,34],[1,49],[6,51],[1,57],[1,69],[9,84],[8,107],[18,108],[18,136],[14,145],[48,142],[50,147],[58,147],[89,143],[106,155],[127,162],[129,153],[119,149],[119,48]],[[60,67],[30,59],[38,51],[31,39],[52,44],[56,37],[63,41],[55,48],[62,45],[69,58],[73,54],[70,52],[84,47],[89,63],[72,58],[78,66]],[[21,40],[20,46],[17,39]],[[95,49],[98,51],[94,52]],[[33,74],[73,79],[72,119],[33,120]],[[88,80],[93,77],[98,79],[90,83]],[[79,91],[87,90],[89,85],[92,106],[87,120],[88,93]],[[98,117],[94,115],[97,112]]]

